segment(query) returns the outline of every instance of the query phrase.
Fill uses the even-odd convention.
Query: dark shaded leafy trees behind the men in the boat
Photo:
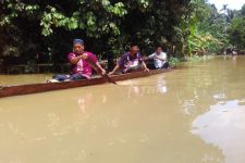
[[[0,1],[0,30],[4,33],[1,42],[2,47],[19,49],[19,55],[32,51],[51,52],[53,60],[64,58],[63,53],[71,49],[65,47],[71,47],[71,40],[75,37],[85,39],[87,49],[99,53],[103,51],[105,55],[121,54],[132,41],[138,42],[143,53],[150,53],[156,45],[171,46],[173,26],[181,22],[188,2]],[[35,47],[27,48],[26,45]],[[0,48],[0,55],[3,49]]]

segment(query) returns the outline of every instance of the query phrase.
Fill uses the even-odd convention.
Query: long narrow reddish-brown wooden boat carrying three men
[[[166,73],[171,70],[155,70],[150,72],[135,72],[130,74],[121,74],[113,75],[111,79],[113,82],[126,80],[138,77],[146,77],[155,74]],[[91,85],[100,85],[108,83],[102,77],[84,79],[84,80],[75,80],[75,82],[63,82],[63,83],[42,83],[42,84],[29,84],[29,85],[19,85],[19,86],[2,86],[0,87],[0,98],[2,97],[11,97],[11,96],[20,96],[20,95],[28,95],[28,93],[37,93],[50,90],[60,90],[75,87],[85,87]]]

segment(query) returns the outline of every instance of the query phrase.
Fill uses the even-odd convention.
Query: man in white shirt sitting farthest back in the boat
[[[156,48],[156,51],[149,57],[147,57],[145,60],[150,60],[150,59],[154,60],[154,66],[156,70],[169,67],[169,63],[167,61],[167,54],[162,51],[161,46],[158,46]]]

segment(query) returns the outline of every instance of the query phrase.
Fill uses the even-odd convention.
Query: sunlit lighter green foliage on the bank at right
[[[223,12],[219,13],[213,4],[205,0],[192,0],[188,9],[188,14],[183,15],[182,22],[174,28],[173,38],[180,45],[179,53],[220,53],[231,47],[230,43],[243,48],[244,23],[234,18],[242,15],[242,11],[240,14],[224,5]]]

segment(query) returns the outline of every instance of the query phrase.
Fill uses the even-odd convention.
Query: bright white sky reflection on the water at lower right
[[[245,162],[245,99],[219,101],[193,122],[192,133],[223,151],[226,163]]]

